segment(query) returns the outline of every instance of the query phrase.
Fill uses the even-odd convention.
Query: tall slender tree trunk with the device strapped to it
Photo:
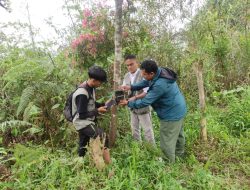
[[[114,62],[114,84],[117,90],[121,84],[121,62],[122,62],[122,3],[123,0],[115,0],[115,62]],[[111,109],[111,125],[109,131],[109,145],[114,146],[117,129],[117,107]]]

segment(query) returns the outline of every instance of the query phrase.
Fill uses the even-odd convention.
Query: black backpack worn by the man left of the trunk
[[[85,85],[81,85],[78,88],[85,88]],[[75,113],[72,113],[73,94],[75,93],[75,91],[77,89],[75,89],[73,92],[70,93],[70,95],[68,96],[68,98],[66,100],[64,109],[63,109],[63,115],[64,115],[65,119],[69,122],[73,122],[73,119],[74,119],[75,115],[77,114],[77,111]]]

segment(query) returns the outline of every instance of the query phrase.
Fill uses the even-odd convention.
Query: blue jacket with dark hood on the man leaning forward
[[[129,102],[128,107],[143,108],[151,105],[158,117],[164,121],[177,121],[186,115],[186,102],[176,83],[176,73],[158,68],[152,81],[142,80],[131,85],[131,90],[136,91],[145,87],[149,87],[147,95]]]

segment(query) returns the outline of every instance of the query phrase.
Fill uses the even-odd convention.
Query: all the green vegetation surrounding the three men
[[[67,29],[67,45],[56,53],[49,51],[50,42],[31,48],[24,36],[21,45],[0,32],[0,189],[250,188],[249,1],[206,1],[194,17],[189,14],[191,8],[184,8],[189,6],[182,6],[185,3],[169,4],[171,11],[178,8],[190,20],[178,32],[162,22],[170,14],[161,8],[166,7],[165,1],[143,0],[138,7],[124,5],[123,9],[123,54],[153,58],[179,74],[189,108],[187,152],[174,165],[161,159],[155,113],[157,148],[132,140],[124,108],[118,110],[112,164],[98,171],[90,155],[77,156],[77,133],[64,120],[62,110],[90,65],[101,65],[109,81],[113,79],[114,17],[109,6],[84,7],[69,1],[68,10],[77,15],[78,28]],[[155,17],[159,19],[152,21]],[[202,114],[193,71],[197,62],[202,65],[206,93],[207,143],[199,139]],[[98,90],[98,99],[107,100],[111,89],[111,83],[105,84]],[[99,122],[107,132],[110,118],[106,114]]]

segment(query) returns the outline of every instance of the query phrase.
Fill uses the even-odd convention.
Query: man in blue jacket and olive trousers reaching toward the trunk
[[[151,105],[160,119],[160,147],[164,158],[175,162],[175,156],[184,154],[183,120],[187,112],[185,99],[176,83],[177,75],[167,68],[158,68],[155,61],[145,60],[140,66],[145,80],[123,90],[138,91],[149,87],[147,95],[135,101],[123,100],[121,105],[143,108]]]

